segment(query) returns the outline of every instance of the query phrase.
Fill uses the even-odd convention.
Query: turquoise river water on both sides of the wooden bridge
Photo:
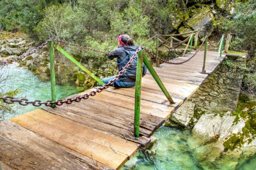
[[[8,77],[4,83],[5,90],[19,88],[19,93],[15,98],[27,98],[32,100],[49,100],[51,99],[50,82],[41,82],[37,76],[33,75],[26,68],[16,67],[18,64],[4,66],[7,69]],[[0,75],[4,69],[0,69]],[[2,84],[3,85],[3,84]],[[2,86],[0,82],[0,87]],[[83,88],[74,85],[56,85],[56,99],[63,99],[77,92],[81,92]],[[18,106],[17,114],[32,111],[33,105]],[[6,118],[10,118],[6,117]],[[153,135],[158,139],[157,152],[154,156],[150,156],[143,151],[139,151],[129,160],[122,170],[256,170],[256,156],[250,159],[241,159],[238,161],[239,166],[233,166],[237,160],[230,158],[220,159],[218,162],[204,160],[203,153],[205,150],[211,150],[207,146],[195,149],[193,146],[200,143],[200,139],[191,139],[190,130],[179,130],[160,127]],[[202,149],[203,148],[203,149]],[[202,163],[203,162],[203,163]]]

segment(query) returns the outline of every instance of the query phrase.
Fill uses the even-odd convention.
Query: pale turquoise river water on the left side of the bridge
[[[14,90],[19,88],[21,93],[15,98],[26,98],[29,101],[33,100],[41,100],[42,102],[46,100],[51,100],[51,82],[42,82],[39,78],[31,73],[27,68],[17,67],[17,63],[4,66],[3,69],[0,70],[0,74],[5,72],[4,76],[8,77],[7,81],[4,83],[4,90]],[[7,69],[7,72],[4,71]],[[1,72],[2,71],[2,72]],[[0,87],[3,86],[0,82]],[[65,84],[58,85],[56,84],[56,99],[63,99],[64,97],[76,94],[78,92],[83,91],[84,88],[76,87],[75,85]],[[42,107],[45,105],[42,105]],[[32,111],[34,109],[38,109],[39,107],[35,107],[32,104],[27,106],[17,105],[17,115],[22,113],[26,113]],[[5,119],[10,118],[11,115],[5,117]]]

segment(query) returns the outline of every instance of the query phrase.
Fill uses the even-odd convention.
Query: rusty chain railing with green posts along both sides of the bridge
[[[180,62],[172,62],[172,61],[167,61],[165,59],[162,59],[158,56],[158,54],[154,54],[151,51],[149,51],[147,48],[145,47],[141,47],[143,44],[153,40],[155,37],[157,37],[157,40],[159,39],[159,35],[156,34],[153,37],[149,38],[147,41],[145,41],[144,43],[140,44],[139,48],[137,49],[137,51],[135,52],[135,54],[132,56],[132,58],[130,59],[130,61],[127,62],[127,64],[124,66],[124,68],[119,71],[119,73],[117,75],[114,76],[114,78],[112,80],[110,80],[107,84],[104,84],[103,82],[101,82],[101,80],[99,80],[98,78],[95,78],[96,81],[98,81],[99,83],[102,84],[102,86],[98,87],[96,90],[91,91],[90,93],[81,95],[81,96],[77,96],[74,98],[64,98],[64,99],[59,99],[56,100],[54,97],[54,90],[52,90],[52,100],[46,100],[45,102],[42,102],[41,100],[33,100],[33,101],[29,101],[28,99],[25,98],[20,98],[20,99],[15,99],[14,97],[11,96],[4,96],[4,97],[0,97],[1,100],[3,100],[3,102],[7,103],[7,104],[14,104],[15,102],[20,104],[20,105],[28,105],[28,104],[32,104],[35,107],[39,107],[41,105],[46,105],[46,106],[50,106],[50,107],[56,107],[56,105],[63,105],[63,103],[66,104],[71,104],[72,102],[80,102],[82,99],[88,99],[90,96],[94,96],[96,95],[96,93],[98,92],[102,92],[104,89],[108,88],[110,85],[112,85],[114,83],[114,81],[116,81],[120,76],[123,75],[124,71],[127,70],[127,68],[131,65],[131,63],[133,62],[133,60],[137,57],[137,76],[136,77],[136,87],[135,87],[135,108],[134,108],[134,114],[135,114],[135,119],[134,119],[134,136],[139,137],[139,123],[140,123],[140,91],[141,91],[141,78],[142,78],[142,65],[143,63],[146,65],[147,69],[150,71],[151,75],[153,76],[153,78],[155,79],[155,81],[157,82],[157,84],[159,85],[159,87],[161,88],[162,92],[165,94],[165,96],[167,97],[167,99],[171,102],[171,103],[175,103],[171,96],[169,95],[168,91],[166,90],[165,86],[163,85],[163,83],[161,82],[160,78],[158,77],[157,73],[155,72],[154,68],[151,66],[150,61],[147,59],[147,56],[145,55],[144,51],[149,54],[151,57],[154,57],[156,59],[158,59],[159,61],[168,63],[168,64],[174,64],[174,65],[180,65],[183,64],[187,61],[189,61],[190,59],[192,59],[197,53],[198,51],[200,51],[200,49],[202,48],[203,44],[205,44],[205,54],[204,54],[204,63],[205,63],[205,58],[206,58],[206,50],[207,50],[207,39],[208,37],[206,36],[202,42],[202,44],[200,45],[200,47],[196,50],[195,54],[193,54],[192,56],[190,56],[188,59],[186,59],[185,61],[180,61]],[[191,34],[191,36],[189,37],[189,42],[190,46],[192,47],[192,41],[190,41],[191,39],[193,39],[193,33]],[[223,40],[224,40],[224,36],[221,39],[221,45],[220,45],[220,49],[222,51],[222,45],[223,45]],[[95,51],[98,53],[103,53],[103,54],[109,54],[109,55],[113,55],[111,53],[108,52],[104,52],[104,51],[100,51],[100,50],[96,50],[93,48],[88,48],[88,47],[84,47],[81,45],[77,45],[77,44],[73,44],[73,43],[69,43],[66,41],[61,41],[61,40],[57,40],[57,39],[49,39],[46,42],[44,42],[43,44],[41,44],[39,47],[35,48],[34,50],[28,52],[27,54],[21,55],[21,57],[18,58],[14,58],[11,59],[9,61],[4,61],[1,62],[0,65],[6,65],[9,64],[11,62],[23,59],[28,57],[29,55],[35,53],[36,51],[39,51],[40,49],[44,48],[46,46],[46,44],[50,44],[50,58],[51,58],[51,62],[50,62],[50,67],[51,67],[51,78],[55,76],[54,73],[54,47],[53,44],[54,42],[59,42],[62,44],[66,44],[66,45],[71,45],[71,46],[75,46],[77,48],[83,48],[83,49],[87,49],[87,50],[91,50],[91,51]],[[181,42],[180,42],[181,43]],[[187,46],[188,46],[187,44]],[[158,44],[157,44],[158,45]],[[82,68],[87,74],[89,74],[91,77],[94,78],[93,74],[91,74],[91,72],[88,72],[87,69],[84,69],[82,65],[79,65],[77,63],[77,61],[75,61],[75,59],[72,59],[72,56],[70,56],[69,54],[67,54],[66,51],[64,51],[62,48],[60,48],[59,45],[56,45],[55,48],[60,51],[62,54],[64,54],[67,58],[69,58],[71,61],[73,61],[75,64],[77,64],[80,68]],[[221,55],[221,53],[220,53]],[[205,66],[205,64],[204,64]],[[203,67],[204,67],[203,66]],[[205,71],[203,71],[205,72]],[[53,83],[55,83],[55,78],[51,81],[53,86]],[[52,87],[52,89],[54,89],[55,87]]]

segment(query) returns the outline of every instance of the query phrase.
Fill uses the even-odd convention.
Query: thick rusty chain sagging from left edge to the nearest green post
[[[53,39],[51,39],[51,40],[53,40]],[[49,41],[51,41],[51,40],[49,40]],[[137,51],[135,52],[135,54],[133,54],[133,57],[130,59],[130,61],[127,62],[127,64],[124,66],[124,68],[121,71],[119,71],[119,73],[117,75],[115,75],[115,77],[112,80],[109,80],[109,82],[107,84],[103,85],[102,87],[98,87],[96,90],[91,91],[89,94],[84,94],[82,96],[77,96],[75,98],[56,100],[55,102],[53,102],[52,100],[46,100],[45,102],[42,102],[41,100],[29,101],[28,99],[25,99],[25,98],[15,99],[14,97],[10,97],[10,96],[0,97],[0,99],[2,99],[7,104],[13,104],[14,102],[18,102],[20,105],[32,104],[35,107],[39,107],[41,105],[46,105],[46,106],[52,107],[54,104],[55,105],[63,105],[63,103],[71,104],[74,101],[80,102],[81,99],[88,99],[89,96],[94,96],[94,95],[96,95],[97,92],[102,92],[102,90],[108,88],[109,85],[112,85],[114,83],[114,81],[116,81],[121,75],[123,75],[123,72],[127,70],[127,68],[131,65],[131,63],[133,62],[133,60],[136,58],[136,56],[138,55],[138,53],[141,50],[142,50],[142,48],[139,47],[137,49]]]

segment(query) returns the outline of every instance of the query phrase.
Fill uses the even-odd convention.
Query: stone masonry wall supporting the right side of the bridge
[[[217,114],[236,109],[242,85],[245,58],[230,58],[207,77],[200,88],[179,109],[170,120],[187,127],[193,126],[201,115]],[[190,123],[190,124],[189,124]]]

